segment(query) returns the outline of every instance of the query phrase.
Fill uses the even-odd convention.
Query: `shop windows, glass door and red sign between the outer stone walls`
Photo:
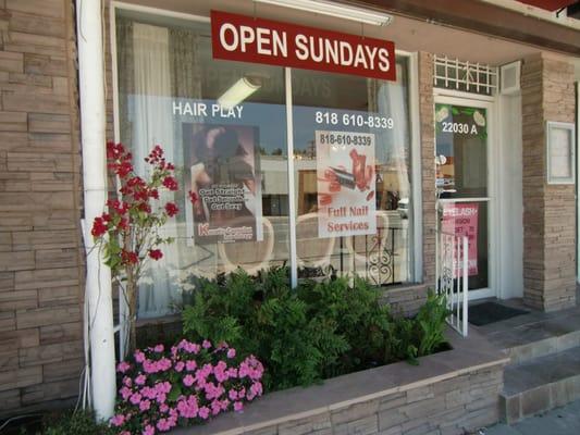
[[[238,266],[417,295],[435,284],[442,228],[469,237],[471,299],[523,295],[518,74],[535,49],[355,11],[372,20],[346,5],[312,17],[263,2],[112,4],[115,140],[137,162],[162,145],[199,196],[174,198],[186,213],[141,284],[143,319],[173,312],[192,276]],[[419,51],[437,54],[419,65]]]

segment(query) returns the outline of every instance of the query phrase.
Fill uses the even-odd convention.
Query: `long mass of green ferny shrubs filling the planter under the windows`
[[[249,276],[237,270],[195,290],[183,311],[192,340],[226,341],[266,366],[268,390],[394,361],[417,361],[445,341],[445,301],[430,293],[415,319],[395,319],[361,278],[304,281],[289,287],[287,268]]]

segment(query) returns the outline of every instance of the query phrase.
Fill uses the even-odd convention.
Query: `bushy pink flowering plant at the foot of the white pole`
[[[242,412],[245,402],[262,395],[261,362],[208,340],[183,339],[169,351],[163,345],[136,350],[134,360],[116,370],[121,388],[111,425],[122,435],[153,435]]]

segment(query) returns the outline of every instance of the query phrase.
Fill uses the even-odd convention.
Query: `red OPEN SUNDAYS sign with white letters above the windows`
[[[214,59],[395,80],[395,45],[338,32],[211,11]]]

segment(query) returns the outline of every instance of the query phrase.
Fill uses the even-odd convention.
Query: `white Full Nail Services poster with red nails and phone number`
[[[319,237],[377,233],[374,135],[316,132]]]

